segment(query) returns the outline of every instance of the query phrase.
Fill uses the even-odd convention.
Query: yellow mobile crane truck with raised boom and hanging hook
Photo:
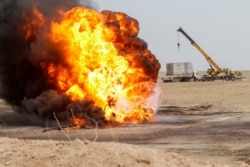
[[[182,33],[191,44],[205,57],[210,68],[207,70],[207,75],[201,77],[201,81],[214,81],[214,80],[242,80],[245,77],[242,76],[240,71],[232,72],[229,68],[221,68],[181,27],[177,29],[177,32]],[[177,44],[178,47],[180,44]]]

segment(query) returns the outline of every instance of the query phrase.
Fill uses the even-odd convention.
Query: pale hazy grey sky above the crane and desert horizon
[[[208,63],[177,29],[182,27],[222,68],[250,70],[250,0],[94,0],[99,11],[124,12],[137,19],[139,37],[160,61]],[[177,49],[179,39],[180,49]]]

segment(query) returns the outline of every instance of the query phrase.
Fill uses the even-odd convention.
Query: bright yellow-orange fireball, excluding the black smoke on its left
[[[107,121],[148,121],[158,103],[152,96],[157,93],[160,64],[137,37],[138,22],[124,13],[84,7],[60,14],[59,20],[43,19],[49,28],[44,23],[40,32],[25,29],[26,39],[27,34],[38,33],[37,39],[43,41],[38,44],[46,46],[35,53],[48,82],[70,103],[90,102],[91,110],[99,108]],[[40,28],[41,22],[33,26]],[[72,123],[86,126],[89,116],[81,113],[85,110],[79,114],[78,107],[69,108]]]

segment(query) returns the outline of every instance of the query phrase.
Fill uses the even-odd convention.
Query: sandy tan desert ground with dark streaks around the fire
[[[152,120],[120,128],[58,130],[1,101],[0,166],[250,166],[250,71],[244,81],[163,83],[164,74]]]

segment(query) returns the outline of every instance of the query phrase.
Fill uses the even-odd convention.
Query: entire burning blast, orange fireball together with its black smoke
[[[1,1],[1,97],[77,127],[150,120],[160,64],[137,20],[76,1]]]

